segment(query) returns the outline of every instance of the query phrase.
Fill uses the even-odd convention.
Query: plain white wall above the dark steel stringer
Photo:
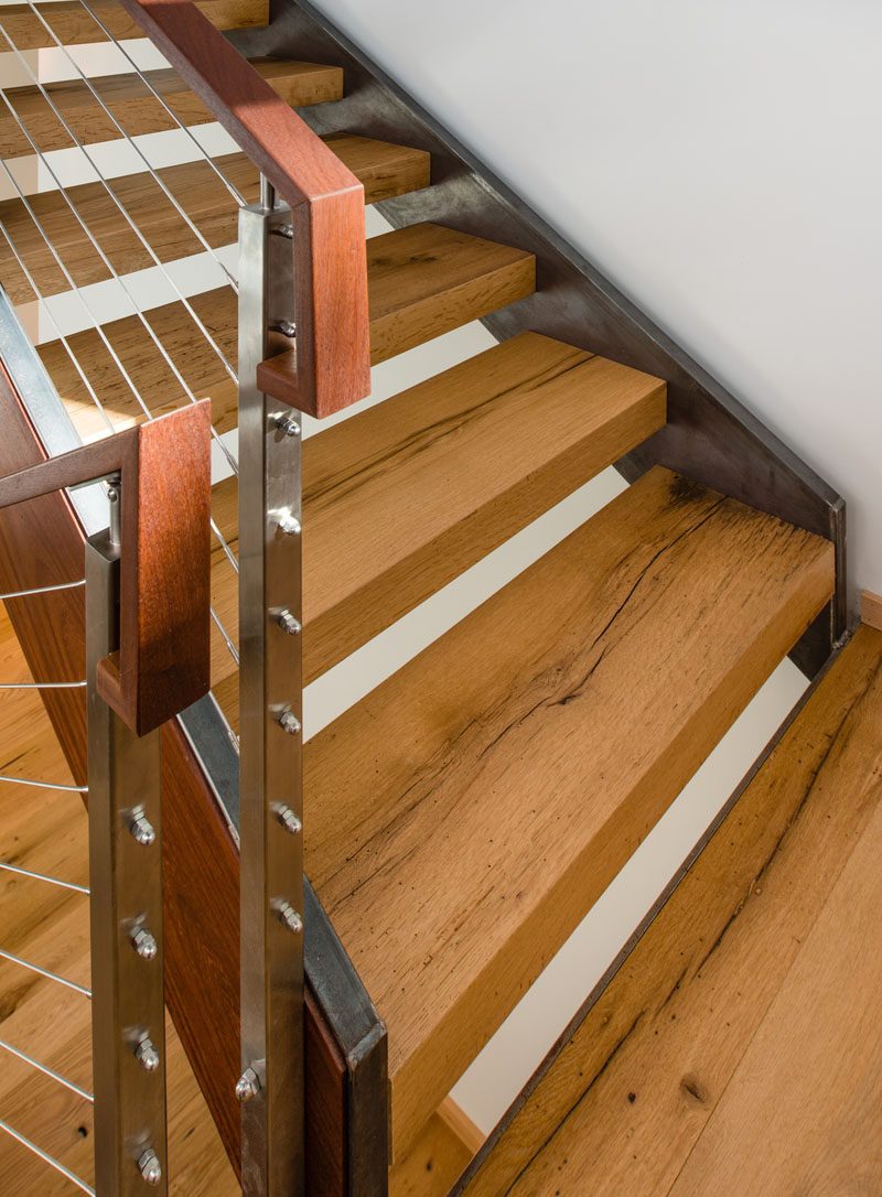
[[[882,593],[882,6],[316,2],[846,497]]]

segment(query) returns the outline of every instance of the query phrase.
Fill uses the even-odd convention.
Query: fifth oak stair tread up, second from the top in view
[[[273,91],[293,108],[340,99],[343,93],[343,73],[340,67],[286,62],[280,59],[255,59],[251,65]],[[145,78],[182,123],[205,124],[214,120],[177,72],[146,71]],[[97,75],[91,84],[129,136],[177,128],[177,122],[138,75]],[[81,79],[43,84],[43,87],[84,145],[112,141],[121,136],[114,121]],[[65,150],[74,144],[38,87],[7,87],[5,95],[41,151]],[[0,114],[0,156],[14,158],[31,153],[34,147],[4,105]]]

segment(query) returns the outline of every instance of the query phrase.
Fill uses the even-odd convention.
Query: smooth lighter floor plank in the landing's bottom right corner
[[[882,706],[876,711],[882,725]],[[866,792],[882,746],[840,774]],[[671,1193],[872,1192],[882,1165],[882,788],[869,826]]]

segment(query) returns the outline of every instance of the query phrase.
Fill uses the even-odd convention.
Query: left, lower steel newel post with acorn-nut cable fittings
[[[118,511],[118,487],[111,487]],[[86,543],[89,862],[98,1197],[166,1192],[159,733],[139,737],[98,694],[120,646],[120,540]]]

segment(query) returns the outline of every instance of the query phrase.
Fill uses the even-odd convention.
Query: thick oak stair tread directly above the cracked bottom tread
[[[312,681],[662,427],[664,383],[522,333],[303,445]],[[214,517],[237,527],[236,480]],[[233,582],[217,558],[218,600]],[[236,721],[237,703],[225,706]]]

